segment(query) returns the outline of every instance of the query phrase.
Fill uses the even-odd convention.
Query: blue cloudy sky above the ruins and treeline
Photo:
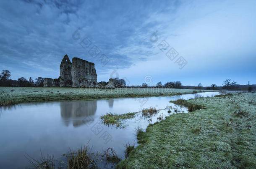
[[[97,81],[256,84],[256,0],[1,0],[0,70],[60,76],[65,54]]]

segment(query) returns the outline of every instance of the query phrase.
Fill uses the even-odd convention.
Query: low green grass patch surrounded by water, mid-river
[[[102,123],[109,126],[115,126],[116,128],[125,128],[128,124],[125,124],[125,119],[132,119],[135,117],[136,112],[126,113],[126,114],[112,114],[107,113],[103,116],[100,116]]]

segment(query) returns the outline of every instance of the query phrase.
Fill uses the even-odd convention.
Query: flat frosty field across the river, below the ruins
[[[200,90],[175,88],[0,87],[0,106],[26,102],[89,100],[118,97],[173,96]],[[204,90],[208,91],[208,90]]]

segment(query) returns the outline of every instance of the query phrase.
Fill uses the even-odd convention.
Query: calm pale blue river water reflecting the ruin
[[[218,92],[199,93],[214,96]],[[118,156],[125,158],[124,144],[136,144],[135,128],[143,129],[157,121],[158,116],[169,116],[172,112],[188,112],[187,108],[176,106],[169,101],[194,98],[196,94],[170,97],[116,98],[94,101],[56,101],[50,103],[23,103],[1,107],[0,110],[0,168],[30,168],[25,154],[40,159],[42,154],[53,154],[55,159],[63,159],[62,154],[92,146],[93,152],[102,153],[108,147],[113,148]],[[150,118],[142,118],[141,113],[126,120],[125,129],[105,126],[99,117],[108,113],[125,114],[138,112],[150,106],[163,109]],[[104,165],[101,167],[103,168]]]

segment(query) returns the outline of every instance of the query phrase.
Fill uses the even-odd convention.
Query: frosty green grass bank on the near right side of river
[[[256,94],[197,98],[204,106],[174,114],[137,135],[118,169],[256,168]]]

